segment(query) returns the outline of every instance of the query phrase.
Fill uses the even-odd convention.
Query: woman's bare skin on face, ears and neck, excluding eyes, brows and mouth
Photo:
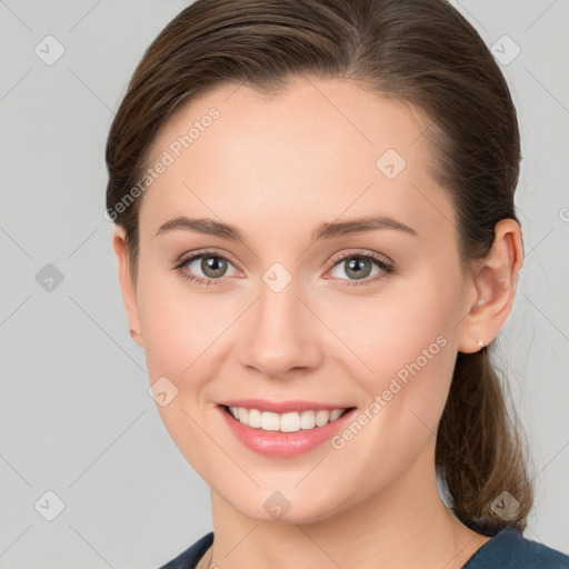
[[[211,553],[221,569],[461,567],[488,538],[440,499],[435,433],[457,352],[488,345],[511,310],[518,223],[500,221],[488,257],[462,274],[455,210],[427,168],[428,120],[340,79],[298,79],[274,98],[243,86],[203,93],[170,119],[149,163],[211,107],[220,117],[143,194],[136,282],[122,229],[113,234],[150,380],[166,376],[178,389],[158,410],[211,488],[214,543],[200,567]],[[392,180],[376,166],[387,149],[407,161]],[[311,239],[321,222],[370,213],[418,236]],[[182,229],[156,236],[178,216],[232,223],[247,243]],[[202,248],[229,259],[218,287],[171,270]],[[397,272],[373,280],[381,269],[372,263],[362,283],[350,259],[333,268],[335,256],[355,251],[387,256]],[[274,262],[292,277],[278,293],[262,280]],[[211,278],[200,260],[186,271]],[[341,450],[323,443],[296,458],[263,457],[214,409],[262,397],[363,410],[441,335],[446,346]],[[263,508],[277,490],[291,505],[279,520]]]

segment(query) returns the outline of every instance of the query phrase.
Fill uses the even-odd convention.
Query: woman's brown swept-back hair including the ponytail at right
[[[455,204],[462,269],[489,252],[499,220],[518,221],[516,109],[487,46],[447,1],[197,0],[146,51],[109,133],[107,214],[126,230],[134,280],[142,197],[130,207],[124,197],[172,113],[222,83],[271,94],[300,76],[348,79],[429,118],[432,176]],[[520,432],[488,348],[459,352],[436,462],[456,516],[481,533],[526,527],[532,487]],[[491,507],[502,491],[520,503],[507,519]]]

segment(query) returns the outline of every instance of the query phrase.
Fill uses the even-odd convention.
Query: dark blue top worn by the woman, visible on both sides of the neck
[[[212,542],[210,531],[160,569],[194,569]],[[490,538],[463,569],[569,569],[569,557],[506,528]]]

